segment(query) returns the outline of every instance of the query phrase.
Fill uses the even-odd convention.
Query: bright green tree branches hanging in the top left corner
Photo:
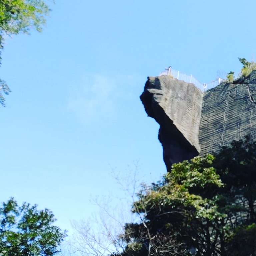
[[[42,31],[48,15],[49,6],[43,0],[0,0],[0,55],[5,36],[19,33],[29,34],[31,28]],[[0,56],[1,60],[1,56]],[[4,106],[10,89],[5,81],[0,80],[0,104]]]

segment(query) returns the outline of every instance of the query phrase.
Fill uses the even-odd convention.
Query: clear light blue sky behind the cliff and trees
[[[209,82],[256,54],[256,2],[49,2],[42,33],[6,40],[1,79],[1,197],[49,208],[62,229],[118,194],[109,173],[139,160],[144,181],[166,172],[158,124],[139,96],[165,67]]]

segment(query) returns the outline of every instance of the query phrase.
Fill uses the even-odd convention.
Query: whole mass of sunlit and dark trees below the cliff
[[[143,187],[119,239],[126,255],[256,255],[256,143],[246,137],[216,155],[174,164]]]

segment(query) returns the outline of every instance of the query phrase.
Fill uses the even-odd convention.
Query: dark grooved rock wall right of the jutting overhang
[[[256,139],[256,71],[239,82],[222,83],[204,93],[200,155],[218,152],[221,146],[229,146],[247,134]]]

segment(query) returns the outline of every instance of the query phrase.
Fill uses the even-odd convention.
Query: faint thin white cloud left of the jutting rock
[[[83,120],[113,118],[122,99],[133,94],[134,84],[134,76],[86,75],[79,84],[71,86],[68,109]]]

